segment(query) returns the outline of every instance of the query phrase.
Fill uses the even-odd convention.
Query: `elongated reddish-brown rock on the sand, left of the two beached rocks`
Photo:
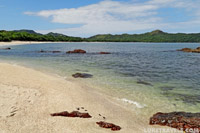
[[[80,117],[80,118],[91,118],[88,113],[81,113],[79,111],[73,111],[71,113],[64,111],[60,113],[53,113],[51,116],[64,116],[64,117]]]

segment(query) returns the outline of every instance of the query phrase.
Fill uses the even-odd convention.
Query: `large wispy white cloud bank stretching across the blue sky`
[[[160,8],[183,8],[194,10],[198,1],[191,0],[149,0],[147,2],[117,2],[105,0],[97,4],[79,8],[59,10],[43,10],[39,12],[25,12],[26,15],[50,18],[53,23],[81,24],[79,27],[66,29],[51,29],[50,31],[73,36],[90,36],[94,34],[123,33],[138,30],[151,30],[171,26],[164,18],[158,17]],[[198,14],[198,12],[195,12]],[[197,21],[197,20],[189,20]],[[183,22],[182,22],[183,23]],[[187,22],[185,22],[187,23]]]

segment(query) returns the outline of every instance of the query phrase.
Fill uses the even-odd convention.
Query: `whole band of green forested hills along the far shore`
[[[33,30],[0,31],[0,41],[63,41],[63,42],[200,42],[200,33],[166,33],[160,30],[144,34],[102,34],[89,38],[71,37],[59,33],[39,34]]]

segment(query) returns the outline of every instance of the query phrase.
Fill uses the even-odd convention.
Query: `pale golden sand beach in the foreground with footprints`
[[[0,63],[0,132],[110,132],[96,122],[104,119],[122,127],[119,132],[141,133],[148,120],[116,99],[62,77]],[[84,107],[91,119],[51,117],[51,113]],[[83,110],[83,112],[85,112]],[[162,127],[166,128],[166,127]]]

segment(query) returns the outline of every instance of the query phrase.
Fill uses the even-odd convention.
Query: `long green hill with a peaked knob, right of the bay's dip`
[[[160,30],[155,30],[144,34],[96,35],[88,38],[88,40],[98,42],[200,42],[200,33],[170,34]]]

